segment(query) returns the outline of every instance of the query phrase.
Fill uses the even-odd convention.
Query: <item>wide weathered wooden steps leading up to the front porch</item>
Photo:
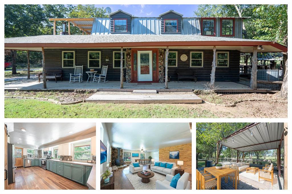
[[[132,92],[96,92],[85,100],[96,103],[202,103],[193,92],[159,92],[133,94]]]

